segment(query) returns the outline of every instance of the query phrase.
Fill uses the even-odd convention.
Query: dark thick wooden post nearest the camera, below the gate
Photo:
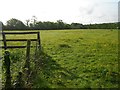
[[[5,51],[4,55],[4,65],[5,65],[5,76],[6,76],[6,82],[5,82],[5,88],[11,88],[11,72],[10,72],[10,53],[8,51]]]

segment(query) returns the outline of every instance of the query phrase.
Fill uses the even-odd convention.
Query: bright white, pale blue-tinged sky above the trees
[[[63,20],[65,23],[108,23],[118,21],[120,0],[0,0],[0,21],[11,18],[23,22]]]

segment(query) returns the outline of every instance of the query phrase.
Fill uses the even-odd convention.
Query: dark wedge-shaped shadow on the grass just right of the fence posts
[[[36,56],[36,66],[38,70],[33,80],[35,88],[65,88],[70,81],[78,78],[44,52]]]

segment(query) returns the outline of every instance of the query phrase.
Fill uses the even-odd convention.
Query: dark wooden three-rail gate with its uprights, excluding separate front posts
[[[15,34],[15,35],[23,35],[23,34],[36,34],[37,35],[37,39],[30,39],[30,41],[37,41],[38,44],[39,44],[39,47],[41,48],[41,43],[40,43],[40,32],[2,32],[0,33],[2,34],[2,37],[3,37],[3,40],[0,40],[0,41],[3,41],[4,43],[4,46],[0,46],[0,48],[4,48],[5,50],[6,49],[9,49],[9,48],[26,48],[26,46],[7,46],[7,42],[8,41],[27,41],[28,39],[6,39],[6,35],[7,34]],[[34,46],[31,46],[31,47],[34,47]]]

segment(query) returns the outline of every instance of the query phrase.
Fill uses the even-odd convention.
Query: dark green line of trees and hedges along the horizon
[[[57,20],[56,22],[42,22],[37,21],[36,18],[32,20],[26,20],[26,23],[12,18],[3,24],[3,30],[60,30],[60,29],[117,29],[119,28],[119,23],[102,23],[102,24],[87,24],[83,25],[81,23],[71,23],[67,24],[62,20]]]

